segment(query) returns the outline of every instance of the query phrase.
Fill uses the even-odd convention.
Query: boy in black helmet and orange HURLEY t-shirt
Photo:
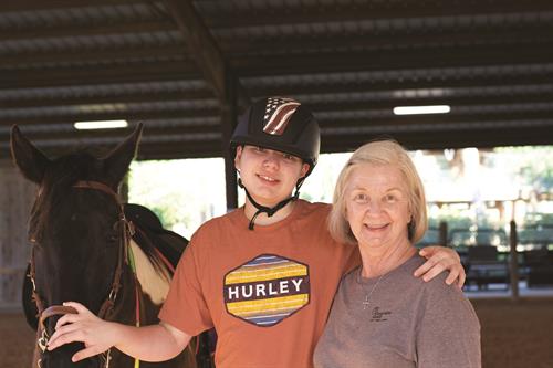
[[[161,322],[124,326],[66,303],[79,314],[60,318],[49,349],[83,341],[86,348],[74,361],[112,346],[140,360],[159,361],[215,327],[217,367],[312,367],[338,282],[359,262],[355,246],[330,236],[330,206],[298,199],[319,147],[317,123],[299,102],[270,97],[254,103],[231,138],[246,204],[194,234],[159,314]],[[462,284],[457,254],[446,249],[434,253],[418,273],[436,263],[425,277],[448,267],[449,283],[461,273]]]

